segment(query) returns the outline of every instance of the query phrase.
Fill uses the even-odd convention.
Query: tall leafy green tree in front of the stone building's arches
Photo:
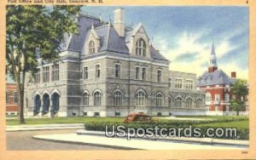
[[[6,15],[7,71],[17,83],[19,119],[24,119],[26,73],[37,71],[37,58],[56,60],[64,33],[78,33],[81,6],[8,6]]]

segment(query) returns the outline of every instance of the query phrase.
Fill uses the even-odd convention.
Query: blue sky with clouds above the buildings
[[[84,7],[83,12],[113,20],[118,7]],[[125,25],[143,24],[156,49],[171,61],[170,70],[207,71],[214,39],[218,68],[247,79],[247,7],[122,7]]]

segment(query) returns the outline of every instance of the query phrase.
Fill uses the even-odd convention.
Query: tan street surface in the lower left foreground
[[[111,147],[91,146],[35,140],[32,135],[38,134],[69,134],[78,129],[15,131],[6,132],[7,150],[117,150]]]

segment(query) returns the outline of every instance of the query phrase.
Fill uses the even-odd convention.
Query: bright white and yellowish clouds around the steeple
[[[212,42],[200,42],[197,41],[204,36],[205,31],[198,33],[189,33],[184,31],[177,38],[177,46],[175,49],[168,48],[168,40],[165,37],[156,37],[155,46],[160,49],[160,53],[171,61],[170,70],[172,71],[184,71],[193,72],[197,76],[200,76],[204,71],[207,71],[207,66],[204,66],[208,62],[209,54],[211,53]],[[228,39],[240,34],[240,31],[235,31],[233,34],[230,33],[225,38],[222,38],[218,45],[215,44],[215,51],[217,59],[221,59],[225,54],[228,54],[231,50],[237,49],[239,45],[232,45]],[[177,56],[182,54],[196,54],[195,60],[188,61],[176,61]],[[218,62],[218,60],[217,60]],[[230,76],[231,71],[236,71],[237,77],[247,79],[247,70],[239,68],[234,61],[225,63],[224,65],[218,64],[218,68],[222,69]]]

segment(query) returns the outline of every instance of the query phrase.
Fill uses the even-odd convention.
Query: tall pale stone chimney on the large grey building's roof
[[[119,8],[114,10],[113,27],[119,34],[119,37],[125,37],[124,9]]]

